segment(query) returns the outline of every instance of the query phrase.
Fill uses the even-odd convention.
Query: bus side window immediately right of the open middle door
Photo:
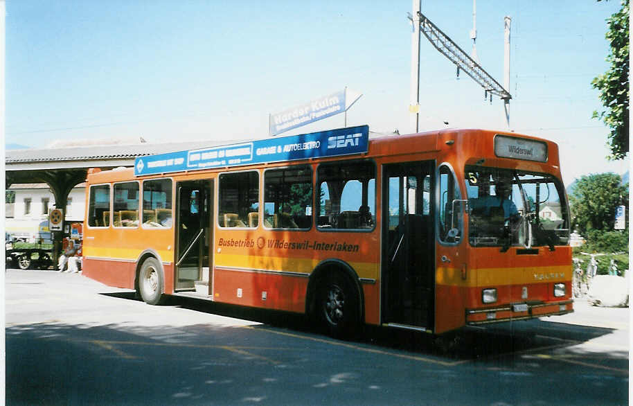
[[[220,227],[257,227],[259,223],[259,173],[256,171],[220,175],[218,216]]]

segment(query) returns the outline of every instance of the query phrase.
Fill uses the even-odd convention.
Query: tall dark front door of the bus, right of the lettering
[[[382,322],[434,326],[434,161],[383,166]]]

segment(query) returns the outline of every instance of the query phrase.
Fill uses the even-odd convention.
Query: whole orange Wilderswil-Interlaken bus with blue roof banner
[[[573,312],[558,145],[368,127],[89,170],[84,275],[147,303],[199,297],[444,333]]]

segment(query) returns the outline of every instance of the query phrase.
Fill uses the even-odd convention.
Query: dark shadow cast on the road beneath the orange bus
[[[127,300],[137,299],[134,292],[101,293],[104,296]],[[177,306],[196,312],[233,317],[260,323],[258,329],[292,330],[308,337],[326,337],[305,315],[248,308],[225,303],[215,303],[189,297],[168,297],[163,306]],[[365,326],[352,341],[393,351],[406,351],[420,355],[434,355],[451,360],[490,360],[504,355],[531,353],[549,348],[577,346],[590,339],[612,333],[611,328],[578,326],[532,319],[490,324],[484,327],[465,327],[452,333],[431,335],[418,331],[400,330],[381,326]],[[333,339],[332,339],[333,340]],[[614,355],[614,354],[612,354]],[[615,354],[618,358],[627,354]]]

